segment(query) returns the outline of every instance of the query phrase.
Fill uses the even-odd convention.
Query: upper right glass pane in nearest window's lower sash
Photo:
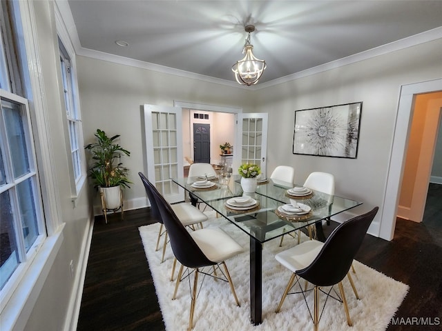
[[[17,103],[2,100],[1,106],[8,134],[9,148],[12,151],[12,171],[14,177],[21,177],[30,172],[28,149],[26,148],[25,132],[21,120],[20,106]]]

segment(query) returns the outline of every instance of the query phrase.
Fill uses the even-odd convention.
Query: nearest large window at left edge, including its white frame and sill
[[[39,72],[28,70],[28,63],[37,63],[38,59],[32,13],[32,1],[0,1],[2,330],[12,330],[12,323],[29,316],[31,310],[22,308],[25,303],[32,306],[37,300],[44,275],[63,239],[57,182],[51,176],[44,176],[52,173],[54,162],[44,120],[48,109],[42,101],[42,79]],[[33,98],[34,95],[41,97]],[[39,143],[38,153],[35,141]]]

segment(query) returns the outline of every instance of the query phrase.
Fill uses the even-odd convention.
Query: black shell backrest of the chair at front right
[[[296,271],[296,274],[317,286],[332,286],[342,281],[377,212],[378,207],[375,207],[338,225],[314,261],[306,268]]]

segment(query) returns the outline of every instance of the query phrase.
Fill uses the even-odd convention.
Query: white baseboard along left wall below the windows
[[[81,307],[81,298],[83,297],[84,279],[86,278],[86,269],[88,267],[90,243],[92,242],[92,233],[94,229],[94,220],[87,222],[88,227],[84,232],[83,243],[81,245],[81,253],[79,255],[79,263],[77,272],[75,273],[75,281],[73,290],[70,295],[70,301],[64,322],[64,331],[77,330],[78,317]],[[81,267],[81,268],[79,268]]]

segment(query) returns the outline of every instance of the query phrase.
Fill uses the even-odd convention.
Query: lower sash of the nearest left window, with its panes
[[[0,90],[0,288],[46,237],[28,102]]]

